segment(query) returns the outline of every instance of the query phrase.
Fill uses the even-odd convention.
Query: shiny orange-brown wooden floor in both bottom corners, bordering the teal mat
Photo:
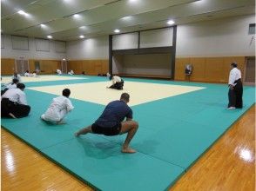
[[[2,190],[92,190],[2,129]],[[255,106],[171,188],[254,191]]]

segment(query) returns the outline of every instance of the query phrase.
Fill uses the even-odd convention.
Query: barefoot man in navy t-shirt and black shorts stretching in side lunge
[[[96,122],[86,128],[80,129],[75,133],[75,136],[85,135],[87,133],[103,134],[107,136],[127,133],[121,151],[123,153],[135,153],[136,150],[130,148],[129,144],[136,134],[138,122],[132,120],[132,110],[127,105],[129,100],[130,95],[123,93],[120,100],[110,102],[105,107],[102,115],[100,115]],[[126,121],[124,121],[125,117]]]

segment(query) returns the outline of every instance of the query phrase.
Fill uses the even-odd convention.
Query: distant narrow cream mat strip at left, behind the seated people
[[[46,82],[46,81],[58,81],[58,80],[77,80],[86,79],[84,77],[69,77],[69,76],[37,76],[37,77],[27,77],[21,76],[22,82]],[[11,77],[2,77],[2,83],[11,82]]]

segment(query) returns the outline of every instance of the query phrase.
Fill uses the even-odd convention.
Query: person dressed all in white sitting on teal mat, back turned
[[[53,98],[50,107],[43,115],[41,115],[41,119],[46,122],[63,124],[65,115],[74,109],[71,100],[69,99],[70,95],[71,90],[64,89],[61,96]]]

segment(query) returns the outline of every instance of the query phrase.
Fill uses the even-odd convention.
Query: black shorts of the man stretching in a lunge
[[[94,134],[103,134],[107,136],[112,136],[112,135],[119,135],[121,131],[121,127],[122,127],[121,122],[119,122],[114,127],[110,127],[110,128],[104,128],[93,123],[91,125],[91,130]]]

